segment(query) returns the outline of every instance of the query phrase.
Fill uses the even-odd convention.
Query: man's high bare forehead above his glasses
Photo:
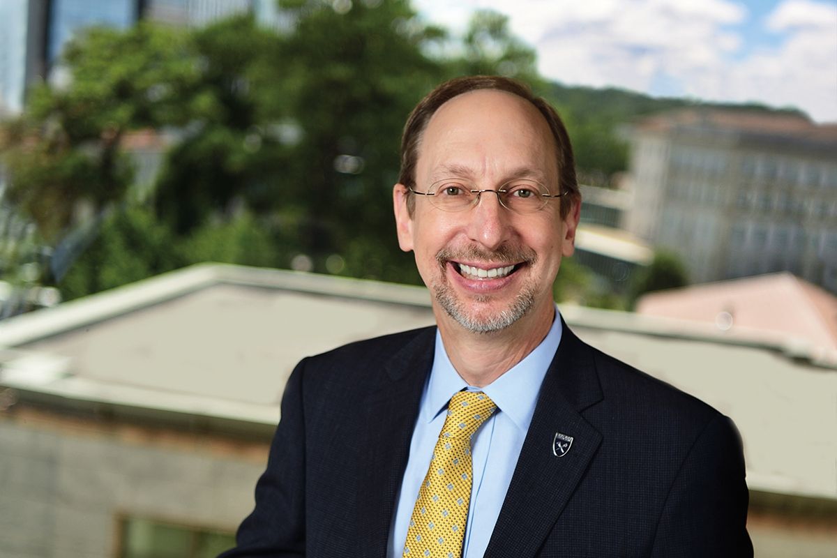
[[[441,178],[436,175],[455,168],[480,175],[470,177],[475,179],[511,173],[553,182],[556,153],[547,120],[529,101],[476,90],[454,97],[431,117],[419,145],[417,178]]]

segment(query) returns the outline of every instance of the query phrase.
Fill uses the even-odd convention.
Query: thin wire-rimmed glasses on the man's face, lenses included
[[[506,209],[524,214],[541,210],[551,197],[563,196],[551,194],[541,183],[525,178],[506,182],[496,190],[480,190],[474,182],[465,178],[445,178],[431,184],[427,192],[418,192],[412,187],[409,191],[427,197],[434,207],[446,212],[460,212],[474,207],[484,192],[496,194],[501,206]]]

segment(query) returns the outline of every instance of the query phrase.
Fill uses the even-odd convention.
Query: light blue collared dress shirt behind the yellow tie
[[[444,351],[442,337],[436,331],[433,369],[424,387],[407,469],[396,499],[389,531],[388,558],[400,558],[403,553],[409,520],[419,496],[419,485],[427,474],[436,440],[444,426],[444,411],[448,408],[450,397],[463,389],[484,392],[497,406],[497,411],[483,422],[471,438],[473,484],[462,546],[462,558],[481,558],[485,554],[535,412],[543,376],[546,376],[560,342],[561,320],[556,307],[552,327],[541,344],[511,370],[480,389],[466,384],[454,369]]]

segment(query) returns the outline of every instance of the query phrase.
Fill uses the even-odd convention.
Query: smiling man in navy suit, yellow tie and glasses
[[[438,328],[300,362],[227,556],[752,556],[732,422],[557,314],[581,200],[550,105],[440,85],[393,202]]]

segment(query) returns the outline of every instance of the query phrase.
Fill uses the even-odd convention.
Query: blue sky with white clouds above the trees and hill
[[[510,18],[567,85],[793,106],[837,122],[837,0],[413,0],[432,23]]]

